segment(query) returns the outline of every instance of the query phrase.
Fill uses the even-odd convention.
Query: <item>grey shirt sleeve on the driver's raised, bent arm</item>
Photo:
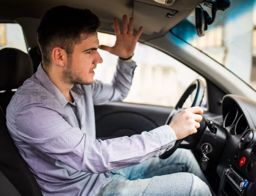
[[[135,62],[118,60],[117,70],[111,83],[95,80],[92,84],[94,105],[122,101],[127,97],[133,77]]]

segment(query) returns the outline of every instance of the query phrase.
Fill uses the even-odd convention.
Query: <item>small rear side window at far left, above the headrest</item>
[[[15,23],[0,24],[0,49],[14,48],[28,53],[22,27]]]

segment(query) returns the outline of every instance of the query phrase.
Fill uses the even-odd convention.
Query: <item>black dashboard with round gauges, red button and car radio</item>
[[[226,95],[222,112],[222,118],[207,119],[216,133],[207,128],[200,142],[211,145],[208,157],[221,178],[218,196],[256,196],[256,102]]]

